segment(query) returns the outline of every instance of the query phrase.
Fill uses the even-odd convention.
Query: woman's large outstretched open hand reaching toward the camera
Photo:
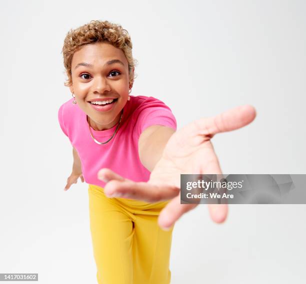
[[[180,204],[180,174],[221,174],[210,139],[216,134],[249,124],[256,116],[254,107],[239,106],[215,117],[201,118],[176,131],[168,140],[160,160],[147,182],[133,182],[109,169],[101,169],[98,179],[107,182],[108,197],[158,202],[169,200],[158,217],[161,228],[170,228],[197,204]],[[209,204],[211,219],[221,223],[227,216],[226,204]]]

